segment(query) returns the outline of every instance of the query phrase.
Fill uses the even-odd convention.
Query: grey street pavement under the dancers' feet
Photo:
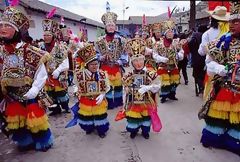
[[[151,130],[150,139],[140,134],[131,139],[125,131],[126,120],[114,121],[118,110],[108,111],[110,130],[104,139],[86,135],[79,126],[64,128],[71,114],[50,117],[55,143],[48,152],[20,153],[14,144],[0,134],[0,162],[238,162],[240,157],[200,144],[204,122],[197,113],[202,99],[195,96],[191,69],[189,85],[179,85],[178,101],[159,105],[163,128]],[[73,98],[72,98],[73,99]],[[72,100],[73,104],[74,101]]]

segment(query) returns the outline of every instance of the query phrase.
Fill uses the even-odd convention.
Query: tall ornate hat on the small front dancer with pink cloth
[[[131,57],[131,60],[145,58],[146,42],[141,38],[134,38],[126,43],[125,50]]]

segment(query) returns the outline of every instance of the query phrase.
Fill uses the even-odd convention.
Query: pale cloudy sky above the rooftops
[[[157,16],[172,10],[175,6],[180,10],[189,9],[189,1],[157,1],[157,0],[40,0],[45,3],[63,8],[101,22],[101,16],[106,12],[106,2],[110,4],[110,10],[118,15],[118,20],[127,20],[129,16]],[[125,6],[125,7],[124,7]],[[128,7],[128,9],[126,9]],[[123,16],[123,9],[125,14]]]

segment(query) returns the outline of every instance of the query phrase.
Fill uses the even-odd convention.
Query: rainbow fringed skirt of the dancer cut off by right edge
[[[221,88],[205,121],[203,145],[224,148],[240,155],[240,93]]]

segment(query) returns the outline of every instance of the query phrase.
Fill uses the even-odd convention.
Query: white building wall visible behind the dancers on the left
[[[42,30],[42,20],[45,18],[45,15],[35,11],[29,11],[28,15],[31,20],[34,20],[35,27],[29,29],[29,34],[33,39],[43,38]],[[60,22],[60,18],[55,18],[56,21]],[[71,28],[72,32],[77,34],[79,32],[80,25],[84,27],[84,24],[80,24],[74,21],[66,20],[64,23]],[[97,27],[90,25],[85,25],[85,28],[88,30],[88,40],[96,41],[97,40]]]

